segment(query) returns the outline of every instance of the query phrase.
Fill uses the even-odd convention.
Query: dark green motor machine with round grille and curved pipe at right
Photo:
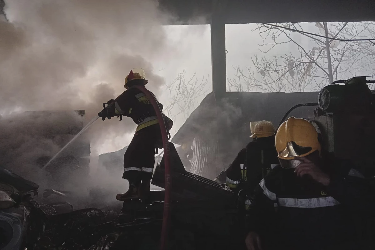
[[[314,121],[323,136],[323,149],[339,159],[352,161],[366,177],[375,177],[375,94],[366,76],[335,81],[321,89],[317,103],[299,106],[319,106]],[[344,83],[339,85],[338,83]],[[281,124],[280,123],[280,124]]]

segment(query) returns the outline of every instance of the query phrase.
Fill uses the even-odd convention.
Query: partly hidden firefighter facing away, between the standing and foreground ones
[[[226,184],[238,192],[248,209],[251,204],[252,193],[259,181],[276,165],[277,153],[275,148],[275,126],[271,121],[255,122],[249,142],[237,154],[237,157],[226,170]],[[252,123],[251,123],[252,124]],[[242,201],[240,203],[242,203]],[[241,204],[240,204],[241,205]]]

